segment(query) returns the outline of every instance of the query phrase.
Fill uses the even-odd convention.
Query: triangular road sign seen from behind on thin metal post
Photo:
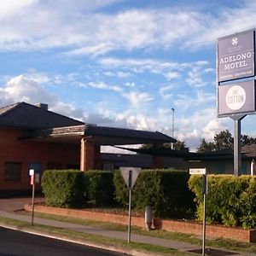
[[[128,243],[131,241],[131,190],[136,183],[139,173],[142,168],[137,167],[120,167],[121,174],[125,180],[126,186],[129,189],[129,218],[128,218]]]

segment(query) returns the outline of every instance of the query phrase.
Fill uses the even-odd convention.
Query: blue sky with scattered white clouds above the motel
[[[256,27],[251,0],[8,0],[0,9],[0,106],[160,131],[193,151],[217,118],[217,38]],[[172,110],[174,109],[174,111]],[[241,133],[256,137],[256,117]],[[109,148],[108,148],[109,149]]]

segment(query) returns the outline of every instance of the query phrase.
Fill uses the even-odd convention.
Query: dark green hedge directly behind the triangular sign
[[[132,191],[132,207],[151,206],[155,217],[185,217],[195,211],[194,195],[188,188],[189,174],[184,171],[148,170],[137,177]],[[128,204],[128,189],[117,171],[113,179],[116,200]]]

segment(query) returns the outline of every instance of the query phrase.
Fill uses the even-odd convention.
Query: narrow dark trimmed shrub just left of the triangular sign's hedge
[[[112,206],[114,203],[113,173],[104,171],[84,172],[87,183],[86,194],[95,206]]]

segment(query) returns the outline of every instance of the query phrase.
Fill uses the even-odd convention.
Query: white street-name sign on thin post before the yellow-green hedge
[[[207,216],[207,168],[197,168],[197,169],[189,169],[189,174],[191,175],[203,175],[202,180],[202,192],[204,195],[204,209],[203,209],[203,230],[202,230],[202,249],[201,254],[205,255],[206,252],[206,231],[207,231],[207,225],[206,225],[206,216]]]

